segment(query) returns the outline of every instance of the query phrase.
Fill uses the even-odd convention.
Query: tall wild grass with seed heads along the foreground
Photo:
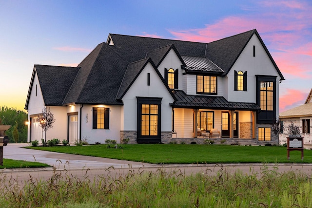
[[[0,175],[2,208],[268,208],[312,207],[311,175],[277,167],[249,174],[227,172],[186,175],[181,170],[129,170],[113,178],[104,174],[79,179],[54,171],[46,181],[30,176],[24,186]],[[88,171],[88,170],[86,170]],[[109,171],[109,170],[105,170]],[[104,172],[103,172],[104,173]]]

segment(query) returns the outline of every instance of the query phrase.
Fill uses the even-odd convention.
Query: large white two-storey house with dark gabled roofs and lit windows
[[[283,75],[254,29],[210,43],[109,34],[77,67],[35,65],[25,109],[28,141],[170,143],[210,137],[277,144]],[[202,136],[202,132],[204,136]]]

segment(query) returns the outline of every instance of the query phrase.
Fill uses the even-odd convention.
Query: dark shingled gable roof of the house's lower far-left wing
[[[77,67],[35,65],[30,86],[37,74],[45,105],[61,106],[78,71]],[[27,95],[25,109],[28,109],[30,93],[31,89]]]

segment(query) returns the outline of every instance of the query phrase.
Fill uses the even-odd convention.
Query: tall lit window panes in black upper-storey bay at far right
[[[273,82],[260,82],[260,108],[273,111]]]

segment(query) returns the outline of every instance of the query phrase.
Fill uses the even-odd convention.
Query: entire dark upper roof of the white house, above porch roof
[[[155,68],[168,52],[174,49],[185,70],[193,73],[215,72],[225,76],[254,34],[267,51],[256,30],[212,43],[110,34],[108,41],[114,45],[98,44],[77,68],[43,65],[35,65],[35,68],[38,70],[36,73],[39,75],[45,105],[122,105],[120,98],[127,92],[147,61]],[[270,53],[267,53],[280,73]],[[156,71],[159,74],[158,70]],[[35,71],[31,85],[34,74]],[[284,79],[281,73],[280,76]],[[160,78],[164,82],[164,79]],[[164,85],[168,88],[167,84]],[[25,109],[28,109],[30,90],[31,86]],[[178,102],[175,105],[177,104]],[[234,106],[234,103],[231,105]],[[244,106],[246,107],[246,104]]]

